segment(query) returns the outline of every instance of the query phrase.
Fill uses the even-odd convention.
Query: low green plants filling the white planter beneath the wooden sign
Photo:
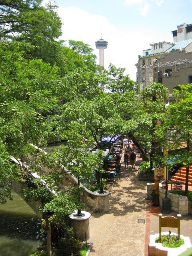
[[[182,238],[178,239],[176,235],[170,235],[169,239],[167,235],[161,236],[161,240],[159,238],[156,238],[156,243],[161,243],[164,247],[169,248],[176,248],[180,247],[182,244],[184,244],[184,240]]]

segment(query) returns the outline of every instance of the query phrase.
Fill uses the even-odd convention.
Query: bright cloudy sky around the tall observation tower
[[[44,0],[45,4],[48,0]],[[154,42],[173,42],[171,31],[183,23],[192,24],[192,0],[54,0],[62,21],[60,39],[82,41],[93,48],[108,42],[104,68],[110,63],[125,68],[136,81],[138,55]],[[67,45],[67,43],[66,43]]]

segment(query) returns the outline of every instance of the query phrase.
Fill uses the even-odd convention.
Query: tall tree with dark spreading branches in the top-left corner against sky
[[[42,0],[3,0],[0,2],[0,38],[28,42],[28,58],[40,58],[55,64],[60,48],[56,39],[61,35],[61,20],[56,6],[41,5]]]

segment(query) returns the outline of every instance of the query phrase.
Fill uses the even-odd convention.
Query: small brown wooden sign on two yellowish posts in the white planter
[[[177,228],[177,237],[180,238],[180,219],[181,215],[177,214],[177,218],[174,216],[165,216],[162,217],[162,214],[159,214],[159,240],[161,241],[161,228]]]

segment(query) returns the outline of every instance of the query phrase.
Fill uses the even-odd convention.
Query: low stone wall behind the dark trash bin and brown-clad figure
[[[152,186],[154,183],[147,183],[147,199],[151,200]],[[162,184],[159,184],[159,202],[160,207],[162,207],[162,198],[165,197],[165,190],[162,189]],[[171,200],[171,210],[178,212],[182,216],[189,214],[188,198],[186,196],[180,196],[167,192],[167,197]]]

